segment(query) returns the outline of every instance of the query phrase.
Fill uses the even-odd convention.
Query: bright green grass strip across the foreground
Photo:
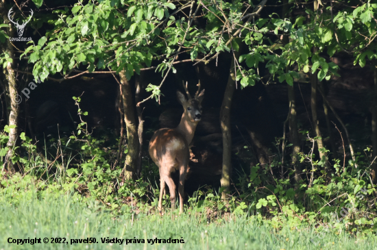
[[[279,231],[258,216],[207,222],[202,215],[114,215],[94,201],[76,197],[21,196],[17,206],[0,195],[0,249],[377,249],[375,236],[355,238],[348,233],[320,234],[313,227]],[[66,238],[66,244],[8,244],[8,238]],[[70,245],[71,239],[95,237],[98,243]],[[101,238],[178,238],[184,244],[101,243]],[[311,238],[319,244],[311,242]]]

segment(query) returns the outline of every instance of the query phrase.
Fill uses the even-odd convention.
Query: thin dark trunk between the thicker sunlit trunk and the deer
[[[141,75],[135,76],[135,84],[136,84],[136,93],[135,93],[135,100],[136,103],[143,101],[141,94],[142,90],[144,89],[141,86],[141,83],[143,81],[143,73]],[[141,107],[141,105],[136,105],[136,112],[138,113],[138,142],[140,144],[140,150],[138,151],[138,167],[137,167],[137,174],[140,177],[141,174],[141,168],[142,168],[142,160],[143,160],[143,126],[144,126],[144,120],[143,120],[143,110],[144,108]]]

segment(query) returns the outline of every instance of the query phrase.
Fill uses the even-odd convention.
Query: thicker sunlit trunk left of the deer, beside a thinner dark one
[[[125,157],[125,164],[123,168],[124,179],[132,179],[136,177],[136,170],[138,166],[138,126],[134,112],[134,101],[130,82],[125,77],[124,71],[119,72],[122,85],[122,101],[125,127],[127,130],[127,149],[128,153]]]

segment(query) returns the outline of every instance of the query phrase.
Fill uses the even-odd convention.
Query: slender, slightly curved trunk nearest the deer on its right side
[[[236,57],[238,53],[234,51]],[[223,134],[223,169],[221,172],[221,186],[225,189],[221,195],[224,201],[228,201],[226,192],[230,188],[230,175],[232,174],[232,133],[230,129],[230,108],[232,107],[233,93],[236,88],[236,75],[234,74],[234,57],[230,62],[230,72],[226,90],[224,93],[223,103],[220,111],[221,132]]]

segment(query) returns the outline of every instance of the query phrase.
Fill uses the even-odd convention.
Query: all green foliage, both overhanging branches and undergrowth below
[[[33,2],[36,8],[46,9],[43,1]],[[288,8],[275,13],[269,5]],[[12,6],[11,2],[6,5]],[[371,1],[314,1],[314,6],[313,2],[291,0],[77,1],[51,12],[36,12],[31,23],[40,37],[20,45],[23,47],[14,52],[14,57],[5,45],[10,38],[10,26],[1,17],[0,62],[4,69],[12,64],[14,71],[24,71],[25,65],[31,64],[28,73],[36,82],[62,82],[96,72],[123,72],[130,81],[152,68],[162,74],[162,81],[149,84],[146,90],[151,95],[142,101],[145,103],[148,99],[160,101],[160,88],[168,74],[176,73],[175,65],[188,61],[190,66],[208,64],[218,60],[221,53],[230,54],[234,81],[242,88],[253,88],[258,82],[286,82],[293,87],[303,75],[314,77],[316,84],[321,85],[339,76],[339,66],[332,60],[339,53],[351,56],[354,65],[375,70],[375,14],[377,4]],[[8,73],[4,70],[1,74]],[[6,77],[2,76],[1,81],[6,84]],[[21,205],[23,195],[19,191],[27,187],[33,190],[27,194],[38,198],[71,194],[83,202],[97,200],[114,216],[156,213],[158,168],[144,158],[138,178],[122,178],[123,166],[114,164],[114,154],[104,150],[104,139],[90,134],[85,121],[88,113],[81,110],[80,97],[74,97],[74,101],[81,122],[73,136],[47,142],[48,151],[53,149],[56,156],[48,155],[47,144],[45,151],[40,152],[25,133],[19,135],[18,145],[10,145],[10,129],[15,125],[1,128],[3,201]],[[342,150],[348,151],[350,147],[351,153],[347,160],[332,158],[334,152],[319,146],[321,136],[315,129],[309,130],[300,128],[305,141],[297,154],[302,171],[299,181],[292,179],[297,174],[295,163],[287,162],[287,148],[291,145],[287,145],[285,136],[276,138],[276,153],[269,164],[256,164],[234,174],[228,203],[221,199],[223,188],[206,186],[189,197],[187,210],[191,215],[201,214],[208,222],[254,214],[258,220],[261,216],[269,218],[269,226],[275,229],[319,223],[354,235],[375,232],[377,190],[371,174],[374,149],[365,145],[363,151],[353,151],[345,131],[349,145]],[[128,149],[130,145],[125,154]],[[7,158],[8,151],[12,151],[11,158]],[[321,153],[324,158],[318,157]],[[242,151],[245,166],[252,154],[246,145]],[[19,173],[7,171],[5,164],[10,160],[19,166]],[[286,174],[281,171],[280,175],[283,168]],[[164,202],[169,205],[168,199]]]

